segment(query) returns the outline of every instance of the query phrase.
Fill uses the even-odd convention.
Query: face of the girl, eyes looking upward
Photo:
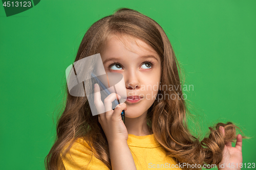
[[[125,117],[135,118],[147,113],[157,98],[161,61],[144,41],[127,36],[113,36],[100,53],[106,72],[123,75],[127,98],[140,96],[138,102],[126,100]]]

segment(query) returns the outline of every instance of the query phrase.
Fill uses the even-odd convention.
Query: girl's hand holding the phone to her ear
[[[115,110],[112,109],[112,102],[117,96],[118,99],[121,98],[120,95],[111,93],[105,98],[103,104],[101,101],[100,87],[98,84],[94,85],[94,104],[98,113],[100,113],[98,114],[98,120],[109,143],[128,139],[128,132],[121,117],[122,110],[127,110],[126,104],[121,103],[116,106]],[[105,112],[105,110],[109,111]]]

